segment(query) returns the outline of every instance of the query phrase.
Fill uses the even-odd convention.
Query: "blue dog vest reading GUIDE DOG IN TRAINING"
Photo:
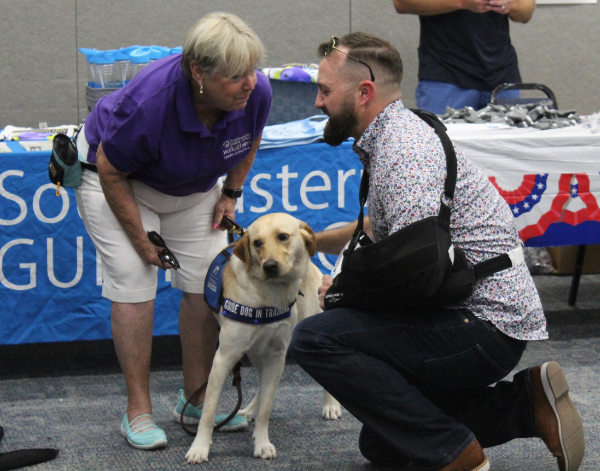
[[[239,322],[247,324],[269,324],[277,322],[292,313],[292,306],[295,301],[286,309],[277,307],[249,307],[243,304],[233,302],[231,299],[223,297],[223,270],[231,260],[233,255],[233,244],[228,245],[215,257],[208,269],[206,279],[204,280],[204,299],[212,312],[221,313]]]

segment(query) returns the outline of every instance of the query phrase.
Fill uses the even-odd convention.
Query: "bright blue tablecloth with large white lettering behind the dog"
[[[49,152],[25,152],[9,142],[0,154],[0,344],[111,337],[110,303],[100,296],[96,250],[77,212],[72,189],[48,179]],[[258,152],[238,200],[239,224],[287,212],[315,231],[358,214],[362,164],[351,144]],[[315,262],[324,271],[335,257]],[[159,274],[154,334],[177,334],[181,292]]]

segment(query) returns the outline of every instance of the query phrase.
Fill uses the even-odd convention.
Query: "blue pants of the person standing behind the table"
[[[433,80],[419,80],[416,91],[417,108],[435,114],[444,114],[447,106],[455,110],[466,106],[480,110],[487,106],[491,96],[492,92],[471,90]],[[506,90],[498,94],[498,97],[502,98],[519,98],[520,96],[519,90]]]

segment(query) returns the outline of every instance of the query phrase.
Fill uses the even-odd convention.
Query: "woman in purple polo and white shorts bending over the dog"
[[[239,18],[207,15],[190,29],[182,54],[148,65],[99,100],[77,141],[87,169],[77,205],[102,259],[102,295],[112,301],[112,335],[127,386],[121,433],[135,448],[167,444],[152,420],[149,376],[157,267],[172,266],[147,232],[160,233],[180,264],[170,272],[172,286],[183,291],[179,421],[185,397],[208,379],[216,350],[204,277],[227,243],[221,220],[235,217],[271,106],[269,80],[256,71],[263,55]],[[198,423],[200,415],[188,406],[185,422]],[[246,426],[240,416],[228,424]]]

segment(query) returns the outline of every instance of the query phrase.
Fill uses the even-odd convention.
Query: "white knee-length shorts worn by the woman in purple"
[[[170,196],[131,180],[142,223],[165,240],[181,265],[171,269],[171,286],[187,293],[204,293],[206,272],[227,245],[227,235],[212,228],[220,184],[206,193]],[[121,303],[141,303],[156,297],[158,268],[137,254],[111,211],[98,174],[84,170],[75,190],[85,228],[102,260],[102,296]]]

